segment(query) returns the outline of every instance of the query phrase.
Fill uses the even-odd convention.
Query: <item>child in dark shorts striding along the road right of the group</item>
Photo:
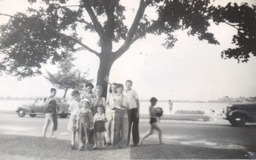
[[[143,143],[143,140],[145,138],[147,138],[149,135],[153,134],[154,129],[158,131],[158,138],[159,138],[159,143],[163,144],[162,142],[162,130],[159,128],[159,126],[157,125],[157,119],[158,117],[156,116],[157,114],[157,109],[154,108],[154,106],[157,104],[157,99],[155,97],[152,97],[150,99],[150,103],[151,106],[149,107],[149,113],[150,113],[150,129],[148,130],[148,132],[142,136],[141,140],[140,140],[140,144]]]

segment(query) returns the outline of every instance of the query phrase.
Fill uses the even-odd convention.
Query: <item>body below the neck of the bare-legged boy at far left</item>
[[[57,127],[54,128],[54,121],[52,115],[56,113],[57,103],[55,99],[51,99],[48,103],[48,105],[45,107],[44,113],[45,113],[45,125],[43,126],[43,137],[46,136],[47,127],[50,126],[50,138],[56,138],[56,136],[53,136],[53,131],[57,130]]]

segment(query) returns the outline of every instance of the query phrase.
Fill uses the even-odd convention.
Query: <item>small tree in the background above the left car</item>
[[[72,54],[68,53],[67,51],[63,52],[63,54],[67,57],[58,63],[58,72],[56,74],[52,74],[47,70],[47,75],[44,77],[56,88],[65,90],[63,96],[63,98],[65,98],[67,90],[82,90],[84,85],[93,81],[93,79],[86,79],[88,76],[87,72],[82,73],[80,70],[74,69],[75,65],[72,62],[76,58],[74,58]]]

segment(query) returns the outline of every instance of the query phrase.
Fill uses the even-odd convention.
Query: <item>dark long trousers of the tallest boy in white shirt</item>
[[[128,110],[128,118],[129,118],[129,129],[128,129],[128,142],[127,145],[130,143],[130,136],[131,136],[131,128],[133,134],[133,144],[138,144],[140,141],[140,134],[139,134],[139,118],[136,118],[138,108]]]

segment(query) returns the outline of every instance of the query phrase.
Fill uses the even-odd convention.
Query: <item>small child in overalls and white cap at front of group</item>
[[[78,111],[77,130],[79,129],[78,151],[85,150],[89,143],[89,129],[92,128],[92,110],[90,110],[90,100],[82,99],[82,108]],[[84,142],[86,141],[86,142]]]

